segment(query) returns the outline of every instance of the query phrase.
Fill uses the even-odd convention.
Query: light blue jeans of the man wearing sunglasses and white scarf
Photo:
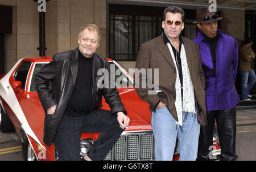
[[[176,120],[164,106],[152,111],[152,128],[155,137],[156,161],[171,161],[176,138],[179,140],[179,161],[195,161],[197,157],[200,124],[197,114],[183,112],[183,126],[175,124]]]

